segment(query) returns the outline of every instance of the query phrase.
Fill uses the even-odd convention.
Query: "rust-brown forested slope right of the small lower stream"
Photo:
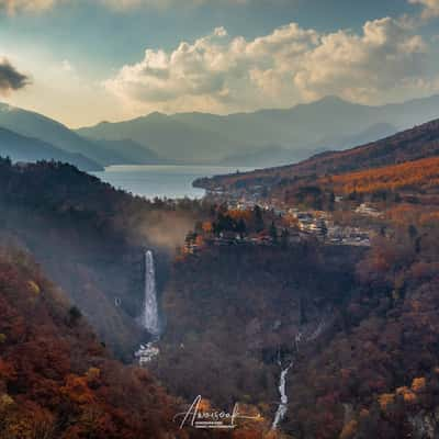
[[[435,437],[439,229],[426,219],[408,206],[383,219],[393,233],[357,264],[358,290],[340,308],[338,331],[292,373],[293,437]]]

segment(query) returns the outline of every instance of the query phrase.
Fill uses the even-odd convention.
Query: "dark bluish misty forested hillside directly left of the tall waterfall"
[[[146,247],[165,279],[169,251],[202,212],[194,202],[148,202],[69,165],[0,162],[1,239],[29,249],[120,357],[132,360],[145,334]],[[172,224],[172,227],[170,225]]]

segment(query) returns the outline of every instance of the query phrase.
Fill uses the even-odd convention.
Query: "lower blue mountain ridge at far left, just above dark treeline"
[[[78,167],[85,171],[99,171],[102,167],[81,154],[66,153],[37,138],[21,136],[0,127],[0,156],[12,161],[56,160]]]

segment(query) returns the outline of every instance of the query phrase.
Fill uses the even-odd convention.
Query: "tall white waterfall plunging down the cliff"
[[[158,318],[156,268],[153,251],[145,252],[145,304],[142,316],[144,328],[158,336],[160,334],[160,322]]]

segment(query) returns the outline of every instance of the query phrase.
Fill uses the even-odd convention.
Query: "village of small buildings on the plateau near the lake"
[[[378,234],[376,227],[372,226],[337,224],[333,212],[288,206],[275,199],[262,200],[258,192],[249,194],[216,189],[209,191],[206,198],[225,204],[227,212],[236,217],[246,217],[250,212],[260,210],[269,218],[269,224],[260,230],[246,233],[236,227],[215,233],[211,225],[205,226],[188,235],[183,249],[185,254],[194,255],[205,246],[289,246],[311,239],[324,245],[370,247]],[[336,196],[335,202],[342,202],[342,198]],[[382,215],[369,203],[359,204],[352,214],[365,218],[379,218]]]

